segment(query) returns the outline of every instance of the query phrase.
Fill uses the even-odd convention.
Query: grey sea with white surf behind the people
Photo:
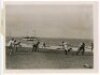
[[[6,38],[6,46],[8,46],[8,42],[9,42],[10,38]],[[27,40],[23,40],[22,37],[18,38],[16,37],[17,41],[21,42],[22,47],[32,47],[33,41],[27,41]],[[59,46],[62,44],[62,41],[66,41],[68,42],[68,44],[70,44],[71,48],[73,49],[73,51],[77,51],[78,50],[78,46],[81,42],[84,42],[86,44],[86,51],[91,51],[91,42],[93,42],[92,40],[87,40],[87,39],[58,39],[58,38],[39,38],[40,41],[40,45],[39,48],[42,48],[42,44],[43,42],[46,43],[45,47],[46,49],[59,49],[62,50],[62,46]]]

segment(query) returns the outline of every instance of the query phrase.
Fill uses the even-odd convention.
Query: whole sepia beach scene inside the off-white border
[[[6,69],[93,69],[93,5],[6,3]]]

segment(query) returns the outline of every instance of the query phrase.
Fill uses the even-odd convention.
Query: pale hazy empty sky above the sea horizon
[[[93,38],[92,5],[7,4],[7,36]]]

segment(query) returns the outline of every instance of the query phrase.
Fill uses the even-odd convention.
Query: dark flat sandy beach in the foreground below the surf
[[[92,52],[85,52],[82,56],[76,55],[76,51],[71,51],[65,55],[59,49],[39,49],[39,52],[32,52],[32,48],[19,48],[16,53],[9,55],[6,49],[6,68],[7,69],[84,69],[84,64],[93,67]]]

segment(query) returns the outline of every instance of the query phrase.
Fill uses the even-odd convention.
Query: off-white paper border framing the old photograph
[[[14,0],[5,0],[4,1],[4,6],[5,6],[5,4],[7,3],[7,2],[9,2],[10,3],[10,1],[14,1]],[[16,1],[16,0],[15,0]],[[17,0],[18,1],[18,0]],[[31,1],[35,1],[35,0],[20,0],[20,4],[21,3],[23,3],[23,2],[25,2],[25,1],[28,1],[29,3],[31,3]],[[40,0],[38,0],[38,1],[40,1]],[[60,70],[60,69],[52,69],[52,70],[48,70],[48,69],[40,69],[40,70],[30,70],[30,69],[27,69],[27,70],[6,70],[6,68],[5,68],[5,50],[4,50],[4,52],[3,52],[3,68],[4,68],[4,73],[6,74],[6,75],[26,75],[26,74],[28,74],[28,75],[32,75],[33,73],[34,74],[36,74],[36,73],[39,73],[39,74],[41,74],[41,73],[57,73],[57,74],[64,74],[64,73],[98,73],[99,72],[99,50],[98,50],[98,47],[99,47],[99,45],[98,45],[98,7],[99,7],[99,4],[98,4],[98,2],[92,2],[92,1],[84,1],[83,2],[83,0],[82,1],[76,1],[76,0],[74,0],[75,2],[73,2],[72,0],[70,1],[66,1],[66,0],[64,0],[64,1],[61,1],[61,0],[59,0],[59,1],[53,1],[53,2],[48,2],[49,0],[47,0],[47,2],[44,2],[43,0],[42,0],[42,2],[34,2],[34,4],[37,4],[37,3],[64,3],[64,4],[73,4],[73,3],[85,3],[85,4],[93,4],[93,6],[94,6],[94,11],[93,11],[93,19],[94,19],[94,43],[95,43],[95,51],[94,51],[94,69],[63,69],[63,70]],[[15,3],[15,2],[14,2]],[[27,2],[26,2],[27,3]],[[6,11],[6,9],[5,9],[5,11]],[[3,12],[4,13],[4,12]],[[5,18],[6,18],[6,16],[5,16]],[[4,21],[5,21],[5,18],[4,18]],[[6,27],[6,24],[5,24],[5,27]],[[6,32],[6,31],[5,31]],[[5,35],[6,35],[6,33],[4,33]],[[4,46],[5,47],[5,46]],[[74,74],[75,75],[75,74]]]

